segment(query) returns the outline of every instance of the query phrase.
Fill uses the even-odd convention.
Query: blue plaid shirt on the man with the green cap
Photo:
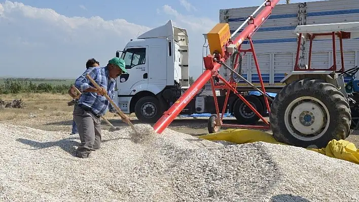
[[[116,110],[104,96],[97,95],[97,93],[93,92],[84,92],[84,90],[90,88],[90,86],[95,88],[90,80],[86,77],[87,74],[89,74],[100,87],[106,89],[107,95],[111,99],[114,97],[116,80],[109,78],[109,70],[107,69],[107,66],[92,67],[88,68],[75,81],[75,87],[82,92],[78,104],[83,104],[90,107],[92,112],[96,115],[104,115],[107,111],[107,106],[109,107],[110,112],[116,112]]]

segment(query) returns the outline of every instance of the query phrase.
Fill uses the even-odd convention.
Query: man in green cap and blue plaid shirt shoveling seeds
[[[110,102],[103,96],[109,95],[113,99],[116,80],[122,72],[127,73],[125,61],[113,58],[105,67],[94,67],[87,69],[78,79],[75,87],[82,91],[82,96],[74,111],[74,119],[79,130],[81,146],[77,149],[77,156],[86,158],[88,155],[100,148],[101,143],[101,120],[100,116],[106,113],[107,107],[110,112],[116,112]],[[96,89],[86,77],[89,74],[101,87]],[[128,123],[128,117],[122,118]]]

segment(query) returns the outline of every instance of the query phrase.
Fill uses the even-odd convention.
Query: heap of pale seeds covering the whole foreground
[[[210,142],[149,125],[78,136],[0,125],[0,201],[358,201],[359,165],[292,146]],[[140,141],[139,141],[140,140]]]

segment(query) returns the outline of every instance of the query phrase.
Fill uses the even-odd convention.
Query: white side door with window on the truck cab
[[[131,47],[122,53],[128,74],[120,75],[118,83],[119,96],[134,95],[139,86],[147,88],[148,84],[148,47]],[[137,89],[136,89],[137,88]]]

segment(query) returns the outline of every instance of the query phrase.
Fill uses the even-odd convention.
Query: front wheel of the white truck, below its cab
[[[141,123],[156,123],[162,115],[160,102],[152,96],[142,97],[136,102],[135,114]]]

